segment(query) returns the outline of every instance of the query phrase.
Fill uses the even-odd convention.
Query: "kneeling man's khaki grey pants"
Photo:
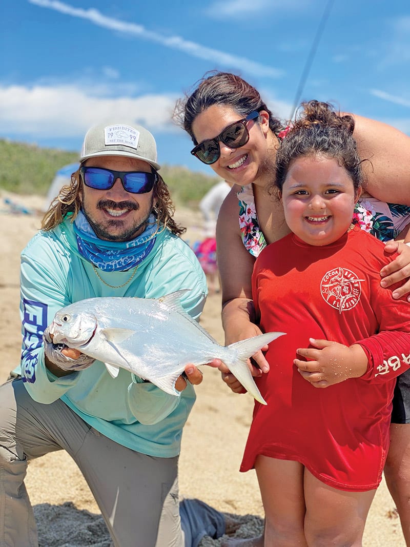
[[[36,403],[17,379],[0,386],[0,547],[38,547],[24,485],[27,462],[61,449],[83,473],[115,547],[184,545],[178,457],[146,456],[114,443],[60,399]]]

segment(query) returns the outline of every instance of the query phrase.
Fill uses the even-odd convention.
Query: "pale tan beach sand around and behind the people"
[[[15,212],[4,203],[5,197],[26,207],[28,214]],[[39,228],[40,216],[35,211],[42,203],[42,198],[37,196],[23,199],[1,194],[0,347],[3,359],[0,378],[3,381],[20,359],[20,251]],[[189,242],[200,238],[198,213],[180,209],[176,217],[188,225],[185,238]],[[210,296],[201,324],[223,344],[220,305],[219,294]],[[202,370],[204,380],[196,389],[197,402],[184,429],[180,494],[186,498],[200,498],[225,513],[240,517],[242,526],[236,537],[251,537],[259,533],[262,526],[259,488],[253,471],[239,473],[238,469],[253,399],[248,394],[231,393],[220,380],[219,371],[208,367]],[[31,462],[26,485],[36,514],[41,547],[109,547],[110,538],[98,507],[76,465],[65,452],[51,453]],[[204,538],[201,547],[220,546],[222,539]],[[384,481],[374,498],[363,544],[365,547],[405,547],[395,505]]]

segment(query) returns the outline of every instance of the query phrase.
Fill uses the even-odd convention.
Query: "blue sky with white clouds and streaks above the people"
[[[0,138],[79,151],[92,124],[132,117],[160,163],[212,173],[172,122],[175,100],[220,69],[288,119],[326,6],[301,100],[410,135],[408,0],[3,0]]]

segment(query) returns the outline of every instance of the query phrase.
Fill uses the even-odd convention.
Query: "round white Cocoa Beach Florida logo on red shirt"
[[[362,281],[365,280],[359,279],[347,268],[333,268],[323,276],[320,292],[327,304],[342,313],[352,310],[358,304]]]

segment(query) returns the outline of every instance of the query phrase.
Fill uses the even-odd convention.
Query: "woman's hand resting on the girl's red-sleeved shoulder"
[[[399,256],[390,264],[380,270],[382,287],[390,287],[400,281],[405,281],[401,287],[393,290],[392,296],[395,299],[407,296],[410,302],[410,247],[400,241],[388,241],[384,247],[386,253],[399,253]]]

